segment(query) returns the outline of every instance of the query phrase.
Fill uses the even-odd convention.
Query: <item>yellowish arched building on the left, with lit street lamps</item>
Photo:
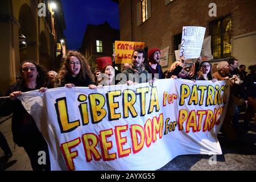
[[[60,0],[57,11],[49,0],[0,1],[0,91],[5,93],[19,75],[19,65],[33,60],[47,71],[59,69],[57,44],[64,38],[65,21]],[[61,48],[59,48],[61,49]]]

